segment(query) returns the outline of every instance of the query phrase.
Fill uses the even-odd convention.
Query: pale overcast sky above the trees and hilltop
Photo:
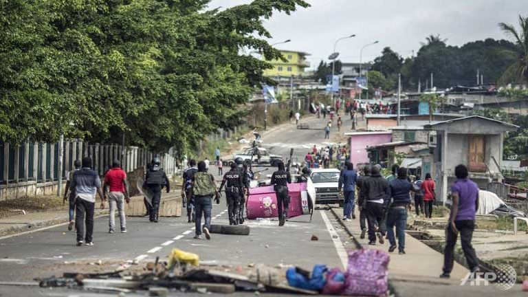
[[[229,8],[250,0],[212,0],[210,8]],[[528,16],[528,0],[307,0],[311,7],[291,15],[276,13],[265,28],[281,50],[308,52],[312,67],[327,60],[337,39],[336,52],[343,62],[360,62],[380,56],[391,47],[401,56],[412,56],[430,34],[439,34],[449,45],[463,45],[486,38],[508,39],[497,24],[518,24],[518,15]]]

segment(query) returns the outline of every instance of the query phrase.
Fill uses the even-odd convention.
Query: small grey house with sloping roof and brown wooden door
[[[458,164],[467,166],[470,179],[479,188],[486,188],[492,181],[501,182],[504,135],[518,128],[478,115],[423,126],[426,131],[436,131],[436,142],[430,145],[432,155],[424,157],[423,162],[430,163],[439,201],[447,199],[450,185],[456,180],[454,167]]]

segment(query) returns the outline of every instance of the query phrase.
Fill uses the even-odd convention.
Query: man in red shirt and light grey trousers
[[[113,233],[115,227],[115,207],[117,206],[119,212],[119,220],[121,223],[121,232],[126,232],[126,218],[124,217],[124,200],[126,203],[130,202],[129,184],[126,181],[126,173],[121,169],[121,164],[118,160],[112,162],[112,168],[104,175],[104,193],[106,195],[107,188],[110,188],[108,193],[108,202],[110,204],[109,214],[109,233]]]

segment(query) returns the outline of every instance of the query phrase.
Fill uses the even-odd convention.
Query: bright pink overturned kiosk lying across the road
[[[288,184],[288,191],[290,197],[288,217],[309,214],[307,184]],[[273,186],[250,188],[247,212],[248,219],[278,217],[277,197]]]

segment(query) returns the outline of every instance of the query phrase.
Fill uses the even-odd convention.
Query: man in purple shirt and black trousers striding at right
[[[473,231],[475,230],[475,212],[478,209],[478,186],[467,178],[467,167],[458,165],[454,168],[456,181],[451,186],[453,205],[448,227],[445,230],[445,251],[443,254],[443,273],[441,278],[449,278],[453,269],[454,245],[460,232],[462,250],[467,265],[475,276],[480,272],[478,259],[471,245]]]

